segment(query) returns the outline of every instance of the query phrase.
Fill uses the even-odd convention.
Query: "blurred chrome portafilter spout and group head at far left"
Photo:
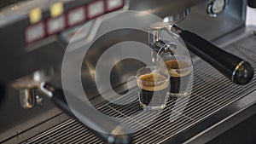
[[[16,79],[11,85],[20,91],[20,106],[30,109],[36,105],[42,106],[43,99],[36,95],[38,84],[48,82],[54,75],[53,67],[44,68],[31,74]]]

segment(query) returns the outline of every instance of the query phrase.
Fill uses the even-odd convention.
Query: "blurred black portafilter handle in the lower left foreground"
[[[49,91],[47,92],[47,90]],[[50,84],[44,84],[44,89],[41,89],[40,91],[46,95],[49,95],[49,97],[51,97],[51,101],[53,101],[57,107],[60,107],[64,112],[67,112],[67,114],[69,114],[71,117],[76,118],[73,113],[73,111],[75,110],[71,110],[70,107],[68,107],[62,89],[56,89]],[[51,94],[49,94],[49,92],[51,92]],[[108,116],[105,116],[103,114],[96,114],[96,109],[82,102],[76,96],[73,96],[72,102],[75,103],[77,107],[83,108],[83,110],[86,112],[85,116],[83,113],[76,111],[76,116],[79,116],[79,118],[83,119],[83,124],[93,125],[97,128],[97,130],[100,130],[101,132],[97,130],[92,130],[88,126],[88,129],[90,129],[94,134],[102,138],[102,140],[105,141],[106,143],[129,144],[133,140],[133,135],[129,133],[131,132],[131,130],[128,129],[124,124],[120,124],[113,118],[109,118]],[[111,132],[111,134],[108,134],[109,132]],[[121,133],[121,135],[118,135],[119,133]]]

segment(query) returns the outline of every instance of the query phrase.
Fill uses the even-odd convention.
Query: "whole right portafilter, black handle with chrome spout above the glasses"
[[[183,20],[188,13],[180,14],[183,15],[180,17],[182,18],[180,20]],[[161,31],[166,31],[173,37],[182,38],[189,51],[201,57],[202,60],[206,60],[207,63],[215,67],[218,72],[224,74],[234,84],[248,84],[253,79],[253,66],[247,60],[243,60],[224,49],[218,48],[218,46],[194,32],[184,30],[177,26],[177,21],[179,20],[172,19],[172,16],[169,16],[162,22],[150,27],[148,43],[154,49],[152,53],[152,61],[154,63],[158,60],[158,56],[165,52],[170,52],[171,55],[174,55],[175,43],[165,43],[160,39]]]

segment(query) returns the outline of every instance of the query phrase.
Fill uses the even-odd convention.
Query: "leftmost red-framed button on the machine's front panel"
[[[40,22],[36,25],[28,26],[25,30],[26,43],[32,43],[45,36],[44,23]]]

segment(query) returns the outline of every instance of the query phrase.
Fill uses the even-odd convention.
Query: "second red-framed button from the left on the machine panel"
[[[47,20],[47,34],[55,34],[61,32],[66,26],[65,16],[61,15],[56,18]]]

